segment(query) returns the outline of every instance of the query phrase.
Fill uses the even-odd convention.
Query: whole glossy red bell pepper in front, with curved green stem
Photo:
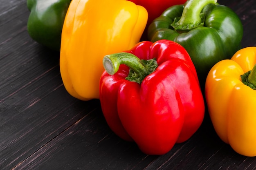
[[[141,65],[144,60],[150,61],[146,67]],[[157,64],[156,69],[151,61]],[[204,117],[202,92],[193,62],[179,44],[169,40],[139,42],[125,53],[105,56],[103,65],[103,115],[113,132],[135,141],[142,152],[165,154],[200,127]],[[140,82],[133,81],[129,70],[144,75]]]

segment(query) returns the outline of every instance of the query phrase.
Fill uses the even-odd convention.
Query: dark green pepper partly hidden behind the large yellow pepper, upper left
[[[61,31],[70,0],[27,0],[27,31],[36,42],[60,51]]]

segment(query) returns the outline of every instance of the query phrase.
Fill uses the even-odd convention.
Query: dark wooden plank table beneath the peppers
[[[256,1],[219,0],[256,46]],[[143,154],[108,128],[98,99],[71,97],[59,54],[31,40],[26,0],[0,0],[0,170],[256,169],[216,135],[208,113],[200,129],[166,155]],[[256,147],[256,144],[255,144]]]

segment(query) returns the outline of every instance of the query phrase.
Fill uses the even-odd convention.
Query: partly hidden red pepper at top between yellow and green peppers
[[[186,0],[130,0],[137,5],[145,7],[148,11],[148,22],[144,31],[144,40],[147,39],[147,30],[149,24],[157,17],[159,17],[166,8],[177,4],[184,4]]]

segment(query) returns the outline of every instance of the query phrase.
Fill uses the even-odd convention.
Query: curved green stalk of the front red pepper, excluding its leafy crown
[[[141,60],[131,53],[114,53],[103,57],[103,66],[110,75],[117,73],[120,64],[125,64],[135,73],[147,73],[147,68],[141,63]]]

